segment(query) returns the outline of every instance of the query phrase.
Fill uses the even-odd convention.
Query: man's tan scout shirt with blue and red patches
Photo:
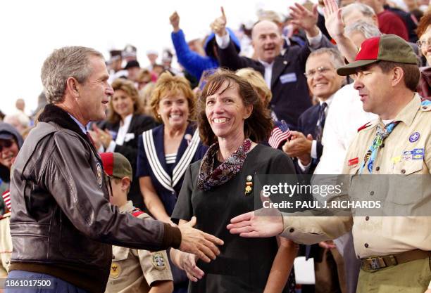
[[[428,101],[421,104],[420,97],[416,94],[396,115],[394,121],[399,121],[399,124],[378,150],[372,174],[430,174],[431,103]],[[360,177],[357,174],[373,143],[379,123],[384,126],[381,119],[363,126],[350,145],[343,174],[352,175],[351,186]],[[363,168],[363,174],[369,174],[367,167]],[[431,188],[420,190],[422,193],[408,193],[406,197],[395,197],[392,193],[387,193],[385,200],[414,213],[416,209],[420,209],[421,204],[418,202],[429,204],[431,200]],[[363,191],[365,193],[366,189],[363,188]],[[373,190],[367,190],[363,197],[368,195],[370,198],[367,200],[373,200],[372,194]],[[284,227],[283,236],[306,244],[333,239],[352,229],[356,256],[360,259],[413,249],[431,250],[430,216],[355,216],[354,219],[351,216],[286,216]]]

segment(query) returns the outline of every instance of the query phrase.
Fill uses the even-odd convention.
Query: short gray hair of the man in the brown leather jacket
[[[87,80],[92,73],[89,56],[104,58],[99,51],[82,46],[59,48],[46,58],[41,70],[41,79],[48,103],[63,101],[69,77],[74,77],[79,83]]]

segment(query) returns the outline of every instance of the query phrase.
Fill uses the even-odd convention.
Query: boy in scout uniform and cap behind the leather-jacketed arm
[[[149,218],[143,211],[127,201],[127,192],[132,181],[130,162],[118,152],[100,154],[104,171],[111,184],[111,204],[120,212],[130,213],[137,218]],[[149,252],[113,246],[111,273],[106,285],[106,293],[151,292],[170,293],[173,278],[166,252]]]

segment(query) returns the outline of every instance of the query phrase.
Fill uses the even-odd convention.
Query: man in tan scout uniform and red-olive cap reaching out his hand
[[[354,87],[361,96],[363,109],[379,115],[377,121],[358,129],[347,152],[344,174],[352,175],[349,194],[362,191],[362,197],[370,197],[368,200],[377,195],[373,189],[365,194],[366,188],[358,184],[361,177],[366,178],[361,174],[397,174],[396,178],[411,180],[415,179],[413,175],[426,174],[420,178],[429,178],[431,102],[422,102],[415,93],[419,71],[411,47],[392,34],[367,39],[355,62],[340,67],[337,73],[354,74]],[[383,199],[389,207],[416,215],[431,201],[429,186],[399,197],[390,191],[393,185],[389,184]],[[251,212],[235,217],[227,228],[243,237],[281,233],[306,244],[333,239],[352,230],[356,255],[363,263],[358,293],[431,293],[430,213],[431,210],[425,216],[282,217],[275,211],[275,216],[263,217]]]

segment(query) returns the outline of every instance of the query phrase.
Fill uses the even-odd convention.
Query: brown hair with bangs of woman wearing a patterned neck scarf
[[[253,86],[246,79],[235,75],[227,70],[219,70],[216,72],[205,85],[201,96],[198,99],[198,125],[201,141],[205,145],[212,145],[217,142],[217,137],[213,133],[213,129],[206,118],[206,98],[212,96],[220,90],[223,84],[227,82],[226,89],[232,89],[235,86],[238,89],[239,96],[242,98],[242,103],[247,107],[253,106],[253,110],[249,118],[244,121],[244,135],[256,143],[268,140],[268,137],[273,130],[273,121],[270,118],[270,111],[263,107],[261,98],[254,90]]]

